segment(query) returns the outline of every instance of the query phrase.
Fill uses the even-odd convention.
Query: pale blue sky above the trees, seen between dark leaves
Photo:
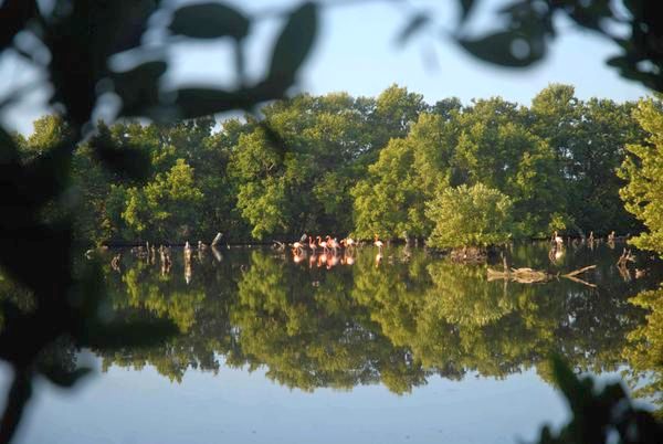
[[[170,4],[185,1],[171,1]],[[248,13],[287,8],[297,1],[252,0],[229,1]],[[334,4],[334,1],[324,2]],[[474,28],[492,25],[492,10],[501,0],[485,0],[477,11]],[[166,3],[169,4],[169,3]],[[442,29],[455,23],[456,1],[361,1],[333,6],[322,14],[322,32],[314,56],[301,73],[298,91],[325,94],[347,91],[352,95],[378,95],[392,83],[424,95],[429,103],[457,96],[464,103],[473,97],[499,95],[509,101],[529,104],[532,97],[549,83],[567,83],[576,87],[580,98],[609,97],[615,101],[636,99],[648,91],[639,84],[622,80],[606,66],[604,60],[617,53],[610,43],[593,34],[559,21],[560,38],[548,57],[537,66],[516,71],[495,67],[472,59],[443,36]],[[414,9],[424,8],[435,18],[435,28],[413,38],[404,47],[394,44],[399,30]],[[257,77],[264,71],[271,42],[281,23],[263,19],[249,41],[249,72]],[[425,54],[425,55],[424,55]],[[427,60],[434,55],[436,67]],[[428,59],[427,59],[428,57]],[[179,45],[171,51],[176,67],[168,73],[167,84],[193,81],[231,84],[232,59],[228,42],[213,42],[191,47]],[[0,92],[15,88],[30,76],[22,66],[0,66]],[[17,74],[18,73],[18,74]],[[46,110],[43,92],[35,91],[32,99],[2,118],[12,128],[29,133],[31,121]]]

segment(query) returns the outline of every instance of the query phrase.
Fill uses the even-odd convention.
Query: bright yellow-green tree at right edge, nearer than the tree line
[[[663,110],[661,103],[642,101],[633,112],[646,131],[643,145],[628,145],[630,156],[619,171],[628,181],[620,190],[625,208],[644,223],[649,232],[632,240],[643,250],[663,254]]]

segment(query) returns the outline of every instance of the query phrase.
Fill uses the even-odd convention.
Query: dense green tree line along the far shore
[[[550,85],[529,107],[499,97],[429,105],[393,85],[376,98],[299,95],[264,106],[260,119],[220,126],[209,117],[99,124],[76,151],[72,200],[82,209],[80,237],[95,243],[209,240],[221,231],[234,241],[432,235],[433,244],[454,246],[551,230],[636,232],[619,195],[633,168],[615,173],[625,147],[644,142],[649,130],[634,108],[580,101],[567,85]],[[19,137],[24,156],[65,133],[56,116],[38,120],[32,136]],[[102,168],[95,148],[110,145],[149,159],[146,183]],[[499,210],[488,205],[497,213],[476,207],[482,199],[461,205],[466,219],[483,213],[485,223],[501,223],[502,236],[441,241],[443,209],[457,207],[450,190],[460,186],[502,195]]]

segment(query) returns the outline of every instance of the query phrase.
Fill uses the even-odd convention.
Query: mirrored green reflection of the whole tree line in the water
[[[379,381],[399,393],[432,374],[504,378],[536,368],[548,379],[550,352],[594,372],[628,362],[632,381],[662,373],[663,320],[653,296],[661,292],[629,303],[636,287],[615,278],[610,258],[599,263],[594,289],[567,281],[487,282],[481,266],[431,261],[418,250],[393,249],[380,267],[371,251],[360,251],[352,266],[330,271],[261,251],[241,254],[197,261],[189,284],[177,261],[166,276],[146,263],[109,273],[115,316],[168,317],[183,335],[158,349],[106,353],[104,366],[151,363],[180,380],[188,368],[217,371],[223,357],[231,367],[264,367],[291,388]],[[643,308],[654,309],[649,324]],[[660,390],[660,381],[641,393]]]

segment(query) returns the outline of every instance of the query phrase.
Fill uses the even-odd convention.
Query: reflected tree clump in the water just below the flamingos
[[[347,267],[308,274],[254,253],[230,313],[248,362],[303,390],[381,380],[402,392],[421,383],[421,368],[377,331],[370,313],[352,298],[351,283]]]

